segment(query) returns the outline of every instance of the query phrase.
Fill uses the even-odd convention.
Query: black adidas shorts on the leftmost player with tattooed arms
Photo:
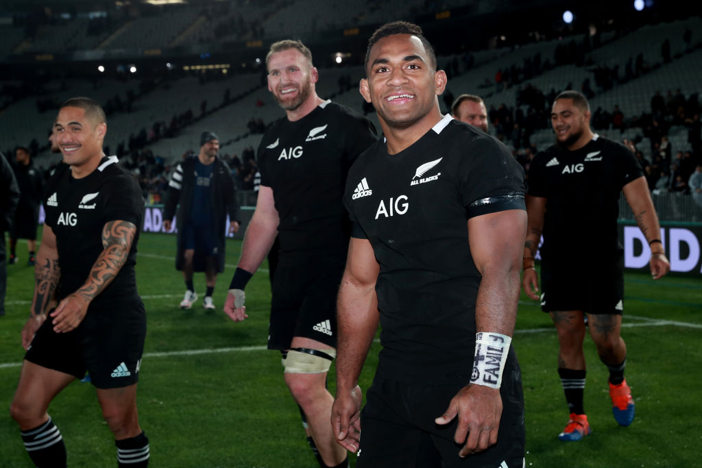
[[[89,308],[69,333],[55,333],[52,320],[47,316],[37,330],[25,354],[27,361],[79,379],[87,371],[100,389],[138,382],[146,337],[146,314],[138,297]]]

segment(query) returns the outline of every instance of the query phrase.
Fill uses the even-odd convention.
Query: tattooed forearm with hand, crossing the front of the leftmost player
[[[53,317],[56,333],[65,333],[77,328],[88,312],[88,305],[107,285],[112,283],[127,260],[136,226],[128,221],[110,221],[102,228],[103,250],[95,260],[86,282],[75,293],[62,300]]]

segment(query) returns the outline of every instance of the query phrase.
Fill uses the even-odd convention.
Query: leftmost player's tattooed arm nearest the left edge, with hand
[[[58,285],[61,270],[58,266],[58,250],[56,236],[48,225],[41,232],[41,245],[37,252],[37,263],[34,266],[34,297],[29,310],[29,320],[22,328],[22,347],[27,349],[32,342],[34,333],[46,319],[46,307],[51,302],[53,293]]]

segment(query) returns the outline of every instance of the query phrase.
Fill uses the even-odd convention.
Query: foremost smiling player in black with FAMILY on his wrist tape
[[[521,468],[510,342],[524,172],[500,142],[442,116],[446,74],[418,26],[380,27],[365,68],[360,91],[386,139],[359,156],[344,194],[353,227],[338,298],[337,439],[362,468]],[[378,322],[383,349],[360,412]]]

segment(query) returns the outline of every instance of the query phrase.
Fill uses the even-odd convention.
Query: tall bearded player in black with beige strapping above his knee
[[[350,235],[341,196],[351,164],[376,141],[375,128],[346,107],[319,98],[317,68],[300,41],[273,44],[266,66],[268,90],[286,117],[258,147],[258,201],[225,313],[234,321],[246,318],[244,286],[278,233],[268,348],[283,355],[285,382],[320,466],[346,467],[345,451],[329,423],[333,397],[326,390],[336,355],[336,293]]]

